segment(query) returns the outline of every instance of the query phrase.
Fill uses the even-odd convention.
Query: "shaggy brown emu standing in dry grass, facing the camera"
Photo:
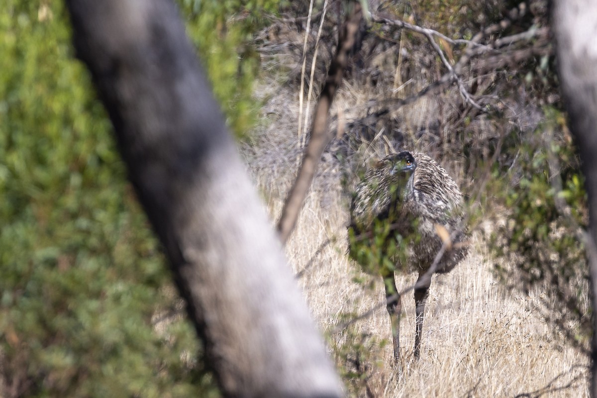
[[[349,255],[365,271],[380,273],[386,289],[392,324],[394,361],[400,361],[402,302],[395,272],[418,271],[414,289],[416,334],[414,358],[421,350],[425,302],[430,275],[424,277],[441,251],[440,234],[450,233],[451,245],[433,273],[447,273],[466,256],[462,193],[453,178],[432,158],[419,152],[400,152],[378,161],[365,172],[350,206]]]

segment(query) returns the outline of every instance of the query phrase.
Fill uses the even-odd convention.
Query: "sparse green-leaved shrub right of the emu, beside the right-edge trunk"
[[[584,345],[591,330],[581,243],[586,194],[574,147],[562,132],[564,116],[550,108],[545,113],[530,140],[507,149],[516,152],[507,155],[515,163],[494,169],[491,194],[506,211],[491,235],[491,248],[503,281],[527,294],[540,289],[543,307],[537,310]]]

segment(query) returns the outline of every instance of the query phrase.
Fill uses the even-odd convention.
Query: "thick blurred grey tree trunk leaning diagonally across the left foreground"
[[[78,57],[225,396],[337,397],[278,236],[167,0],[67,0]]]

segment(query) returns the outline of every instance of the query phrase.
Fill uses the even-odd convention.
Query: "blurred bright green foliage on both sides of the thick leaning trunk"
[[[248,127],[255,106],[257,56],[244,43],[258,11],[274,5],[184,3],[236,131]],[[74,60],[63,4],[3,6],[2,396],[216,396],[109,121]],[[157,322],[161,316],[167,322]]]

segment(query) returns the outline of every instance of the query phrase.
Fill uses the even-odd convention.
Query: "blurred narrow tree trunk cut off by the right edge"
[[[589,196],[590,239],[587,253],[593,304],[591,394],[597,397],[597,2],[556,0],[553,23],[558,41],[562,94],[580,152]]]

